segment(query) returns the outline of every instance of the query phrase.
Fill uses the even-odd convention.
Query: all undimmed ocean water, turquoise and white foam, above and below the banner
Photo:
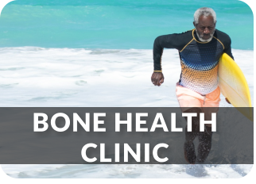
[[[178,106],[178,52],[162,57],[153,86],[153,40],[192,29],[210,6],[254,105],[254,14],[240,0],[14,0],[0,13],[1,107]],[[223,96],[220,106],[231,106]],[[1,160],[0,160],[1,161]],[[242,178],[253,165],[1,165],[12,178]]]

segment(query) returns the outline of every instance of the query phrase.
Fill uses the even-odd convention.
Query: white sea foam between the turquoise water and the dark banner
[[[254,99],[254,52],[233,53]],[[2,107],[178,106],[175,85],[180,60],[173,49],[165,50],[162,58],[165,82],[161,87],[150,80],[152,50],[24,47],[0,48],[0,56]]]

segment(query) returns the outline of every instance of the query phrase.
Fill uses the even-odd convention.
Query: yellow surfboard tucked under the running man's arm
[[[219,59],[219,88],[221,93],[243,115],[253,120],[250,90],[240,67],[224,53]]]

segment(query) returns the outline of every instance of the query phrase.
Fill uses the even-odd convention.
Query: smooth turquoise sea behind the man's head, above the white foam
[[[232,48],[254,49],[254,13],[240,0],[14,0],[0,13],[0,48],[151,49],[157,36],[193,29],[202,6]]]

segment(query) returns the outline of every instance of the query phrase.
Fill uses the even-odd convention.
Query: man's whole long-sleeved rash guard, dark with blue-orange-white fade
[[[210,42],[198,41],[195,29],[186,33],[158,36],[153,44],[154,71],[162,71],[161,56],[164,48],[179,50],[180,85],[202,95],[218,87],[218,63],[223,52],[233,58],[230,37],[217,29]]]

